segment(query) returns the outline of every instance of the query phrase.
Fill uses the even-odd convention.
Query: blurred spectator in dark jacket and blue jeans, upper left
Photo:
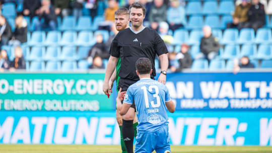
[[[57,20],[55,14],[55,7],[51,5],[50,0],[42,0],[42,6],[37,10],[39,15],[39,22],[36,23],[36,30],[41,30],[42,28],[50,28],[50,30],[56,30]],[[44,18],[44,22],[41,19]]]

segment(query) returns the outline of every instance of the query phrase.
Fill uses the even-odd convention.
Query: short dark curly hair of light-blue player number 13
[[[152,63],[149,58],[139,58],[136,63],[136,69],[140,74],[148,74],[152,68]]]

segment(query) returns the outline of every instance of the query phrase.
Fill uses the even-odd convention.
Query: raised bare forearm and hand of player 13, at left
[[[117,110],[119,111],[120,115],[125,115],[126,112],[128,111],[129,107],[130,107],[130,104],[127,104],[127,103],[121,103],[121,101],[124,99],[124,96],[125,96],[125,93],[126,92],[121,92],[121,88],[118,92],[118,96],[116,98],[116,108]]]

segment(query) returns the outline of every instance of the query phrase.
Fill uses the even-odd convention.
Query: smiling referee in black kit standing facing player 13
[[[155,56],[160,58],[161,74],[158,81],[165,84],[166,71],[168,68],[168,50],[159,34],[150,28],[143,26],[146,9],[143,4],[135,2],[129,7],[129,20],[131,27],[121,30],[113,39],[110,48],[110,58],[106,67],[103,92],[110,93],[109,79],[116,67],[119,57],[121,57],[121,68],[119,72],[118,90],[126,91],[127,88],[139,81],[136,74],[135,62],[141,57],[147,57],[152,62],[151,78],[156,76]],[[122,134],[127,152],[133,152],[133,118],[135,112],[133,103],[128,112],[123,116]]]

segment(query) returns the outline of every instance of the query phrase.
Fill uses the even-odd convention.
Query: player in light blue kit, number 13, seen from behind
[[[151,153],[154,150],[158,153],[171,152],[166,108],[174,113],[175,105],[167,87],[150,79],[152,72],[150,59],[139,58],[135,65],[140,81],[129,86],[126,92],[119,90],[116,98],[117,109],[121,115],[124,115],[133,101],[135,102],[139,121],[135,143],[136,153]]]

